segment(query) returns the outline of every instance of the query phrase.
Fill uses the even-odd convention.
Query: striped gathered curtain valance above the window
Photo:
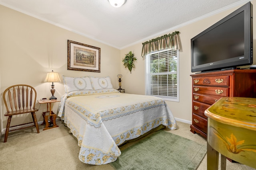
[[[154,51],[161,51],[164,49],[180,49],[180,41],[178,38],[179,31],[175,31],[170,34],[163,35],[161,37],[157,37],[155,39],[151,39],[150,41],[146,41],[142,43],[142,53],[141,56],[146,56],[149,53]]]

